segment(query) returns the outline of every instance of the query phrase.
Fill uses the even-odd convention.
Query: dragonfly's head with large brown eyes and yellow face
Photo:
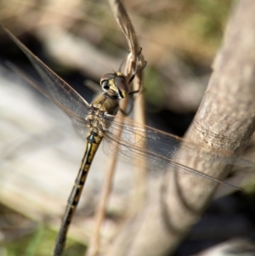
[[[122,100],[127,97],[128,94],[128,82],[127,77],[122,72],[107,73],[101,77],[100,85],[104,92],[111,91],[111,94]]]

